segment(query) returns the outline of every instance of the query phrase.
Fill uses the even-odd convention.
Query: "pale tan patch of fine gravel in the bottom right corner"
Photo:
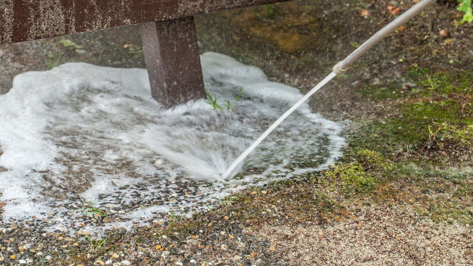
[[[371,205],[353,215],[333,227],[263,226],[254,233],[270,239],[277,255],[294,266],[473,263],[472,237],[464,227],[420,221],[396,206]]]

